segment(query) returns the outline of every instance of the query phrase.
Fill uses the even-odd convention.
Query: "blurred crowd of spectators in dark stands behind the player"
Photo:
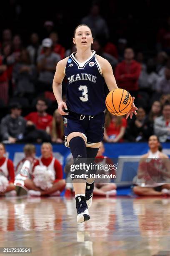
[[[76,51],[72,34],[81,23],[91,28],[92,49],[110,62],[118,87],[135,96],[138,106],[132,120],[106,112],[104,141],[148,141],[152,134],[161,142],[170,141],[168,3],[143,1],[141,15],[135,11],[135,1],[123,1],[123,7],[122,1],[103,2],[87,1],[81,12],[77,1],[75,8],[59,3],[57,9],[51,2],[42,8],[35,3],[28,5],[29,16],[20,1],[4,3],[0,17],[1,141],[63,143],[64,126],[52,80],[57,62]],[[64,100],[66,86],[64,80]]]

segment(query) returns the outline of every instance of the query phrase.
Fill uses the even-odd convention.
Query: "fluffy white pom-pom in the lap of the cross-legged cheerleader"
[[[42,190],[47,190],[52,187],[54,180],[54,172],[48,170],[46,166],[35,166],[33,179],[35,186],[40,187]]]

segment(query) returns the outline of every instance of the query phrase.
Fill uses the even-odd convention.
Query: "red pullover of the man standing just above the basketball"
[[[115,69],[115,78],[119,88],[136,91],[138,90],[138,79],[140,76],[141,66],[133,60],[131,63],[122,61]],[[122,77],[123,75],[123,77]]]

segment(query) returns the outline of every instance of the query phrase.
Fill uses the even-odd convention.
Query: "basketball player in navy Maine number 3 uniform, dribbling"
[[[53,92],[58,111],[65,124],[65,146],[69,146],[77,162],[80,159],[95,159],[102,141],[105,116],[104,84],[111,91],[117,88],[110,63],[91,50],[92,32],[87,25],[75,29],[73,43],[77,51],[57,64]],[[66,103],[62,100],[62,80],[67,77]],[[133,97],[134,101],[134,97]],[[137,108],[127,115],[132,118]],[[76,175],[76,172],[75,172]],[[77,222],[89,220],[88,205],[91,205],[94,179],[73,179],[77,207]]]

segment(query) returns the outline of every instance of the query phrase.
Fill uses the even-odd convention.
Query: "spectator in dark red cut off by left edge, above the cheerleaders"
[[[7,65],[4,58],[0,55],[0,100],[7,105],[8,102],[8,77]]]

